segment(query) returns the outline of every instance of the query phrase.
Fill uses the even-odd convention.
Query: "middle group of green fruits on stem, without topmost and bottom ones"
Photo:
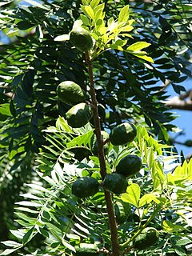
[[[84,103],[85,91],[78,84],[72,81],[61,82],[57,87],[58,98],[66,104],[72,106],[66,112],[68,124],[74,128],[84,126],[92,117],[90,105]],[[74,106],[73,106],[74,105]],[[109,140],[114,146],[121,146],[130,143],[136,137],[137,130],[130,122],[123,122],[114,127],[110,135],[102,130],[102,140]],[[110,142],[103,146],[104,154],[108,154]],[[90,139],[90,150],[92,154],[98,155],[98,142],[96,135],[93,134]],[[102,186],[114,194],[126,192],[128,182],[126,178],[131,178],[142,168],[142,160],[135,154],[126,155],[116,166],[116,171],[112,174],[106,174]],[[73,186],[72,193],[78,198],[86,198],[98,192],[99,183],[95,178],[78,178]],[[83,193],[82,193],[83,191]]]

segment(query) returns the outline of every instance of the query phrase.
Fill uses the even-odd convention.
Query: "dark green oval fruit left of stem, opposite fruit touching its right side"
[[[95,178],[78,178],[72,185],[72,194],[77,198],[87,198],[98,193],[99,183]]]

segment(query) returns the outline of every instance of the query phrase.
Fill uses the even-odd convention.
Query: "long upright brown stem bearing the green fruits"
[[[88,65],[88,72],[90,76],[90,96],[92,102],[92,110],[94,114],[94,128],[95,134],[98,142],[98,160],[100,163],[100,173],[102,176],[102,180],[106,177],[106,161],[103,150],[103,140],[101,134],[101,123],[98,115],[98,102],[94,90],[94,72],[93,65],[90,59],[90,54],[86,52],[86,63]],[[110,224],[110,238],[112,245],[112,256],[120,256],[119,243],[118,243],[118,228],[114,216],[114,206],[111,198],[110,192],[104,190],[105,198],[106,198],[106,209],[109,217]]]

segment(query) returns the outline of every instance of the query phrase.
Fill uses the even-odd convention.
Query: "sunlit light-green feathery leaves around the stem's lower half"
[[[35,181],[27,184],[30,189],[27,194],[22,194],[24,200],[16,203],[16,221],[22,227],[11,231],[20,238],[20,242],[3,242],[9,249],[2,255],[24,246],[26,252],[23,255],[71,255],[70,251],[74,251],[74,246],[80,242],[94,241],[101,251],[102,247],[110,250],[110,232],[102,188],[93,197],[81,200],[71,194],[71,185],[77,177],[91,175],[101,182],[97,157],[84,158],[82,162],[78,162],[74,154],[70,154],[71,146],[90,147],[92,131],[89,125],[86,130],[70,130],[63,118],[58,118],[57,127],[46,130],[47,138],[53,143],[52,147],[47,147],[47,152],[42,152],[36,170],[46,182],[46,188]],[[69,134],[76,136],[71,142],[65,142]],[[86,138],[83,141],[82,136]],[[62,146],[61,141],[64,142]],[[56,151],[56,148],[60,150]],[[186,248],[191,243],[189,184],[192,180],[192,161],[178,165],[174,172],[166,174],[167,170],[172,169],[175,160],[174,156],[166,156],[165,153],[169,150],[170,146],[155,141],[146,128],[138,126],[138,137],[134,142],[123,148],[114,146],[106,158],[107,170],[111,172],[114,161],[127,152],[131,151],[142,157],[142,172],[129,180],[130,186],[125,194],[120,198],[116,195],[113,197],[114,202],[130,204],[126,222],[118,226],[122,251],[126,252],[130,248],[129,255],[134,254],[131,242],[146,226],[157,228],[161,239],[158,245],[150,248],[150,252],[143,250],[142,255],[160,254],[162,250],[165,253],[173,251],[178,255],[190,254]],[[46,248],[35,248],[34,252],[26,245],[38,234],[45,238]]]

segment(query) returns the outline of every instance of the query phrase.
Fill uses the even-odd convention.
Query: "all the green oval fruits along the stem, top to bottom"
[[[93,40],[90,33],[82,28],[74,28],[70,32],[70,42],[81,52],[89,51],[93,47]],[[58,98],[66,104],[72,106],[66,112],[66,120],[73,128],[85,126],[92,118],[92,110],[90,104],[86,103],[86,92],[82,90],[75,82],[65,81],[61,82],[57,88]],[[114,146],[121,146],[130,143],[136,137],[137,130],[130,122],[124,122],[111,130],[110,135],[102,130],[102,142],[107,141],[103,145],[104,154],[109,153],[110,142]],[[96,135],[93,134],[90,139],[90,150],[94,155],[98,155],[98,142]],[[77,148],[74,148],[74,153]],[[77,153],[77,152],[76,152]],[[87,151],[86,151],[87,154]],[[80,156],[81,158],[81,156]],[[87,198],[98,193],[99,186],[101,185],[105,190],[114,194],[122,194],[126,192],[128,182],[126,178],[131,178],[137,174],[142,168],[142,160],[135,154],[129,154],[123,157],[116,166],[115,172],[106,174],[102,184],[92,177],[78,178],[72,185],[72,194],[78,198]],[[125,207],[121,202],[116,202],[114,205],[116,221],[121,224],[126,221],[127,214]],[[134,249],[145,250],[150,246],[154,246],[158,242],[158,230],[153,227],[147,227],[134,238]],[[98,255],[98,248],[94,244],[81,243],[75,247],[76,256],[82,255]]]

